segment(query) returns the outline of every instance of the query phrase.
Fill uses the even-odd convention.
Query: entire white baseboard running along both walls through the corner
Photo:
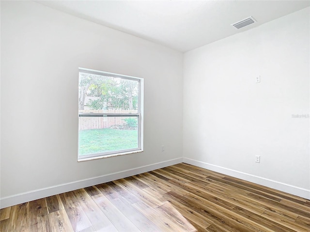
[[[97,176],[94,178],[79,180],[79,181],[70,182],[70,183],[62,184],[62,185],[51,186],[48,188],[41,188],[41,189],[29,191],[29,192],[24,192],[21,194],[4,197],[0,199],[0,208],[5,208],[5,207],[12,206],[12,205],[20,204],[20,203],[30,202],[33,200],[37,200],[37,199],[48,197],[48,196],[53,196],[56,194],[76,190],[79,188],[85,188],[85,187],[89,187],[93,185],[98,185],[101,183],[106,183],[112,180],[117,180],[117,179],[121,179],[124,177],[149,172],[149,171],[152,171],[158,168],[167,167],[167,166],[181,163],[181,162],[185,162],[188,164],[195,165],[197,167],[205,168],[211,171],[215,171],[218,173],[222,173],[222,174],[230,175],[230,176],[240,178],[243,180],[247,180],[252,183],[263,185],[269,188],[275,188],[280,191],[291,193],[293,195],[310,200],[309,189],[299,188],[299,187],[288,185],[288,184],[281,183],[278,181],[266,179],[260,176],[239,172],[236,170],[220,167],[217,165],[205,163],[205,162],[198,161],[198,160],[192,160],[188,158],[177,158],[177,159],[166,160],[163,162],[154,163],[154,164],[150,164],[150,165],[146,165],[146,166],[142,166],[138,168],[128,169],[128,170],[121,171],[121,172]]]

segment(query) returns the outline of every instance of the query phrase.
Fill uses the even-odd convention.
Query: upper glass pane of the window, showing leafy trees
[[[139,81],[79,73],[79,113],[138,113]]]

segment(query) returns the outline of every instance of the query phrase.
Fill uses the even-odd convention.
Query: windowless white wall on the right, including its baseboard
[[[309,15],[185,54],[186,162],[310,198]]]

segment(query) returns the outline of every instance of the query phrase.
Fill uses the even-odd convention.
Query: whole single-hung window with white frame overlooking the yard
[[[78,161],[143,151],[143,79],[79,68]]]

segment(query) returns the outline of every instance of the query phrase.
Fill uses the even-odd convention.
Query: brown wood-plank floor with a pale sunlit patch
[[[310,201],[180,163],[14,205],[1,232],[310,232]]]

